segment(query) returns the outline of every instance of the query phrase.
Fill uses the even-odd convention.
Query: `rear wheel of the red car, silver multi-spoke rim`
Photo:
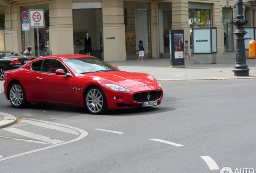
[[[27,103],[25,90],[19,82],[15,82],[10,87],[9,99],[14,108],[24,108],[29,105],[29,103]]]

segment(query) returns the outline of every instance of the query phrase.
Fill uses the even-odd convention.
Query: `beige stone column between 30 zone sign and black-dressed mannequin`
[[[54,0],[49,2],[50,49],[53,54],[74,54],[72,2]]]

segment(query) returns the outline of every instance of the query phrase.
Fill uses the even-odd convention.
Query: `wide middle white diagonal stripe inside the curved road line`
[[[37,135],[35,133],[23,131],[23,130],[12,128],[12,127],[7,127],[7,128],[4,128],[3,130],[4,131],[8,131],[8,132],[12,132],[12,133],[15,133],[15,134],[18,134],[18,135],[22,135],[22,136],[25,136],[25,137],[37,139],[39,141],[44,141],[44,142],[47,142],[47,143],[52,143],[52,144],[58,144],[58,143],[64,142],[64,141],[60,141],[58,139],[51,139],[50,137],[45,137],[45,136],[42,136],[42,135]]]

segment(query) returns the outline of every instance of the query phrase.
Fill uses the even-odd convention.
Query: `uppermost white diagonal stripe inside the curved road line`
[[[36,121],[31,121],[31,120],[23,120],[22,119],[21,121],[24,122],[24,123],[29,123],[31,125],[36,125],[36,126],[40,126],[40,127],[44,127],[44,128],[48,128],[48,129],[54,129],[54,130],[57,130],[57,131],[62,131],[62,132],[78,135],[78,133],[76,131],[74,131],[72,129],[65,128],[65,127],[49,125],[49,124],[46,124],[46,123],[40,123],[40,122],[36,122]]]

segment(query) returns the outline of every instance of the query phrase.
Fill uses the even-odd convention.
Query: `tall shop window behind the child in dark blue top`
[[[126,57],[138,58],[139,40],[143,41],[145,58],[151,58],[150,3],[124,1]]]

